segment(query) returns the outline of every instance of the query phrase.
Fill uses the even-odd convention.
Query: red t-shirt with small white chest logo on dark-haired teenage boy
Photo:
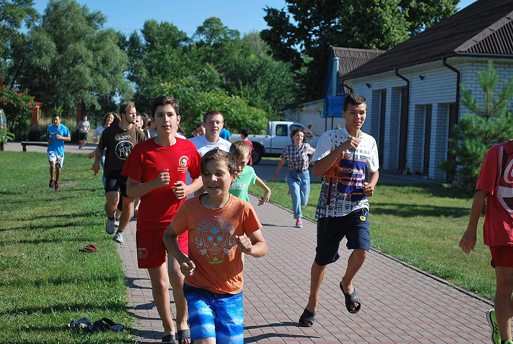
[[[133,148],[128,156],[122,174],[147,183],[155,179],[162,170],[168,169],[169,185],[153,189],[141,196],[137,212],[137,229],[160,229],[169,225],[176,211],[185,199],[177,199],[171,190],[175,181],[185,183],[185,172],[194,179],[201,175],[201,155],[191,141],[176,137],[172,146],[160,146],[153,138]]]

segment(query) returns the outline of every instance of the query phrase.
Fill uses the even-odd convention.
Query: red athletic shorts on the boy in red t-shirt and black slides
[[[166,261],[167,249],[162,237],[166,228],[139,230],[135,232],[137,266],[139,269],[158,268]],[[183,254],[189,254],[189,232],[178,236],[178,246]]]

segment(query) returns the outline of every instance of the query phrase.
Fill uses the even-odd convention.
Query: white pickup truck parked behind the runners
[[[297,127],[305,129],[305,132],[309,131],[302,123],[274,120],[267,123],[267,135],[249,135],[248,138],[253,143],[253,164],[260,163],[262,156],[279,156],[283,148],[292,143],[290,131]],[[313,135],[313,138],[307,138],[306,141],[315,148],[319,136]]]

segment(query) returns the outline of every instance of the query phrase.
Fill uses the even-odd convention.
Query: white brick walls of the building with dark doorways
[[[448,59],[448,64],[461,73],[461,83],[476,96],[478,104],[484,103],[484,93],[479,85],[477,73],[487,68],[485,59]],[[494,62],[500,81],[496,88],[496,95],[502,90],[506,80],[513,77],[513,59],[509,61],[496,60]],[[447,144],[449,132],[449,106],[456,102],[457,74],[439,64],[426,64],[426,68],[415,68],[399,71],[401,75],[410,80],[409,108],[408,108],[408,138],[406,150],[406,169],[412,174],[422,174],[424,167],[424,135],[426,133],[426,106],[431,105],[431,136],[429,149],[429,172],[427,177],[433,180],[444,181],[445,173],[439,170],[440,162],[447,158]],[[397,171],[399,163],[399,134],[401,114],[401,87],[406,82],[388,73],[384,76],[370,75],[365,78],[347,80],[353,84],[354,92],[367,98],[367,119],[362,128],[372,135],[379,144],[381,90],[386,89],[386,115],[385,139],[382,169]],[[367,85],[368,84],[368,85]],[[370,86],[370,87],[369,87]],[[461,104],[459,115],[469,113]]]

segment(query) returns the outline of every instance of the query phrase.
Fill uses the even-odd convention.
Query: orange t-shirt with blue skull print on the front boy
[[[230,194],[222,208],[208,209],[194,197],[182,204],[171,224],[176,234],[189,232],[189,258],[196,268],[185,284],[218,294],[242,291],[244,261],[235,235],[262,228],[249,203]]]

